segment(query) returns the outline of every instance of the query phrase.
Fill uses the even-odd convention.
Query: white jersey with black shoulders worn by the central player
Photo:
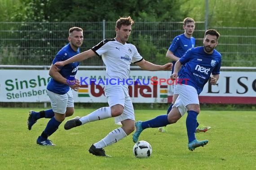
[[[134,45],[119,43],[115,38],[104,39],[92,50],[97,55],[102,55],[107,79],[127,80],[130,75],[130,64],[143,59]]]

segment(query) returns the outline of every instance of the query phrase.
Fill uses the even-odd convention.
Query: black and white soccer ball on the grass
[[[151,145],[144,140],[138,141],[133,146],[133,155],[138,158],[150,157],[152,154]]]

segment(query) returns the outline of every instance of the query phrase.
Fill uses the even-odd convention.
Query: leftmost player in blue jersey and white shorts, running
[[[53,59],[52,66],[49,70],[49,75],[52,77],[47,85],[47,94],[51,101],[52,109],[35,112],[29,111],[27,121],[28,129],[37,122],[40,118],[50,119],[41,136],[36,140],[40,145],[55,145],[48,139],[59,125],[64,121],[65,117],[71,116],[74,113],[74,98],[71,89],[78,91],[80,87],[79,80],[75,79],[75,74],[79,67],[79,62],[67,64],[62,68],[53,67],[57,61],[65,61],[79,54],[84,36],[83,30],[79,27],[72,27],[69,30],[69,43],[66,44]]]

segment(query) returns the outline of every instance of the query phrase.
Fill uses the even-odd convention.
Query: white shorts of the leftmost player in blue
[[[65,114],[67,107],[74,107],[74,98],[71,89],[66,94],[57,94],[46,90],[51,101],[53,112]]]

